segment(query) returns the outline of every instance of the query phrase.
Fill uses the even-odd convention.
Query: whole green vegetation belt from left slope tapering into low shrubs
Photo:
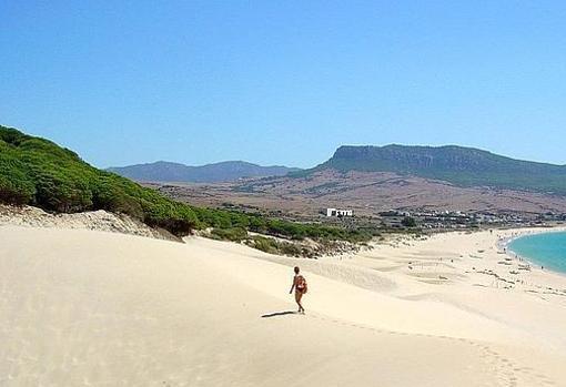
[[[0,202],[52,212],[107,210],[175,235],[194,228],[242,228],[289,238],[365,241],[368,233],[193,207],[117,174],[100,171],[51,141],[0,126]]]

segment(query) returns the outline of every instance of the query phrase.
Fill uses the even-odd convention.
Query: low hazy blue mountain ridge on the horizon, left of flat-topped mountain
[[[300,169],[281,165],[262,166],[244,161],[225,161],[201,166],[158,161],[149,164],[109,167],[108,171],[141,182],[218,183],[242,177],[283,176],[290,172],[297,172]]]

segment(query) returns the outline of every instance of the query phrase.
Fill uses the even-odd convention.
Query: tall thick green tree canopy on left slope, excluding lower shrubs
[[[99,171],[48,140],[4,126],[0,126],[0,201],[52,212],[125,213],[176,235],[199,226],[190,207]]]

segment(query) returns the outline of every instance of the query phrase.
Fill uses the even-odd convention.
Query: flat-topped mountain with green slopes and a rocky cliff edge
[[[462,186],[566,195],[566,166],[519,161],[461,146],[341,146],[314,170],[395,172]],[[304,175],[304,173],[303,173]]]

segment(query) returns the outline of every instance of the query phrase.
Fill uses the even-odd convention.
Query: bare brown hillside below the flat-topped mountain
[[[220,184],[158,185],[195,204],[226,204],[314,215],[324,207],[374,215],[392,208],[503,213],[566,213],[566,197],[451,183],[384,172],[315,172],[305,177],[269,177]]]

